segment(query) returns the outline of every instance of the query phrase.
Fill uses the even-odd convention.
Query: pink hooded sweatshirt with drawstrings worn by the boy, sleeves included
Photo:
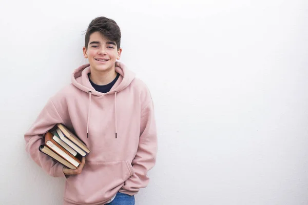
[[[64,204],[104,204],[118,191],[133,195],[147,186],[156,161],[157,132],[146,85],[117,62],[120,77],[107,93],[94,90],[90,65],[76,69],[72,84],[51,97],[25,134],[26,150],[49,175],[65,177],[63,165],[38,151],[43,135],[62,123],[91,152],[80,175],[65,182]],[[87,137],[88,133],[88,137]]]

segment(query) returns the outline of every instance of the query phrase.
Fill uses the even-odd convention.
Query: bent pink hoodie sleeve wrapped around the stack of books
[[[31,158],[37,163],[37,165],[43,168],[43,170],[50,176],[65,177],[63,173],[64,166],[38,150],[38,147],[45,143],[43,134],[48,132],[48,130],[57,123],[64,122],[57,112],[52,100],[49,99],[34,124],[25,133],[26,151],[30,154]]]

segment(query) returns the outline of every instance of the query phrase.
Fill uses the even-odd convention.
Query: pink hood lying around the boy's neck
[[[89,93],[89,91],[91,91],[91,94],[96,96],[110,95],[114,94],[115,92],[120,92],[121,90],[129,86],[131,81],[134,79],[135,74],[132,71],[128,70],[123,63],[120,63],[118,61],[115,62],[114,68],[115,72],[120,74],[120,77],[114,84],[114,86],[111,88],[111,90],[107,93],[98,92],[92,87],[88,77],[88,73],[90,73],[90,64],[80,66],[79,68],[74,70],[71,76],[72,84],[76,88],[86,93]]]

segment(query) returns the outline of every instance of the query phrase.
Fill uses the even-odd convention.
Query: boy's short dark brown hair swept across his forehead
[[[85,36],[85,47],[88,48],[90,35],[94,32],[99,31],[108,40],[117,44],[118,50],[121,44],[121,30],[117,23],[110,18],[100,16],[94,18],[88,26]]]

